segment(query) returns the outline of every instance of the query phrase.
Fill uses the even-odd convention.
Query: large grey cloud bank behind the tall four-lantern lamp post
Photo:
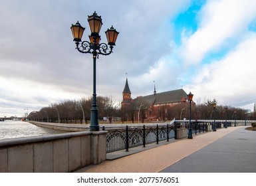
[[[84,39],[88,39],[87,15],[94,11],[102,16],[102,42],[111,25],[120,32],[114,53],[97,60],[97,94],[120,98],[126,72],[134,79],[151,73],[152,66],[170,52],[170,18],[189,3],[1,1],[0,78],[5,83],[1,108],[3,104],[10,112],[15,105],[17,110],[39,108],[92,94],[92,56],[74,49],[70,25],[79,21],[86,27]]]

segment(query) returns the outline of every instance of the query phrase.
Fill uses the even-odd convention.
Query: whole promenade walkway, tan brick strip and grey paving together
[[[221,140],[221,141],[219,141]],[[240,142],[238,142],[240,141]],[[247,141],[251,141],[247,143]],[[225,143],[225,145],[224,145]],[[210,144],[214,144],[209,147]],[[223,145],[222,145],[223,144]],[[237,144],[237,145],[236,145]],[[225,151],[229,145],[227,153],[219,156],[217,152]],[[200,153],[204,147],[209,147],[204,151],[207,153]],[[143,147],[140,147],[143,149]],[[240,152],[233,153],[234,152]],[[193,139],[184,139],[179,141],[171,141],[168,144],[160,145],[151,149],[146,149],[132,155],[121,157],[114,160],[106,160],[100,165],[90,165],[84,169],[80,169],[78,172],[86,173],[156,173],[156,172],[241,172],[249,171],[256,172],[256,132],[245,130],[245,126],[223,128],[217,130],[217,132],[208,132],[193,136]],[[197,152],[196,156],[192,156]],[[243,152],[243,153],[241,153]],[[126,152],[127,153],[127,152]],[[124,151],[121,151],[120,156],[126,155]],[[131,152],[129,152],[131,153]],[[227,169],[221,169],[225,167],[222,157],[228,156],[232,161],[229,161],[231,165]],[[111,156],[111,155],[108,155]],[[192,157],[191,157],[192,156]],[[116,154],[112,157],[118,157]],[[186,158],[187,157],[187,158]],[[216,157],[213,158],[212,157]],[[238,163],[236,158],[244,159],[244,163]],[[190,161],[197,159],[196,163]],[[199,160],[198,160],[199,159]],[[200,160],[201,159],[201,160]],[[254,160],[253,160],[254,159]],[[184,161],[186,160],[186,161]],[[188,161],[187,161],[188,160]],[[204,163],[209,161],[209,163]],[[216,162],[219,169],[209,169]],[[197,164],[199,163],[199,164]],[[201,163],[201,164],[200,164]],[[239,167],[239,165],[246,166],[251,163],[249,169]],[[181,169],[183,167],[183,169]],[[190,169],[186,169],[190,167]],[[194,167],[198,167],[196,170]],[[200,168],[201,167],[201,168]],[[215,166],[216,167],[216,166]]]

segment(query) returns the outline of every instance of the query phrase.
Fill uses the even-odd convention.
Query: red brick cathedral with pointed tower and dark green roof
[[[170,108],[174,106],[180,106],[180,112],[182,108],[188,108],[188,94],[183,89],[170,90],[168,92],[156,92],[156,86],[154,86],[154,94],[148,96],[138,96],[132,99],[132,92],[128,85],[128,79],[126,78],[126,84],[122,92],[122,109],[134,112],[134,119],[140,120],[170,120],[174,118],[174,114],[170,113]],[[195,103],[192,102],[193,106]],[[182,113],[181,113],[182,114]],[[178,118],[180,119],[180,117]]]

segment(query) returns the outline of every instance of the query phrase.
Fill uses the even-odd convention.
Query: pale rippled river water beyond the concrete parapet
[[[59,133],[65,133],[65,131],[41,128],[33,124],[29,124],[28,122],[21,121],[0,122],[0,140]]]

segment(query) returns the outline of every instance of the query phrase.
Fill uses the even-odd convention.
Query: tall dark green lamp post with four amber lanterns
[[[92,15],[88,16],[88,23],[90,25],[91,34],[89,35],[88,41],[82,41],[82,34],[84,33],[84,27],[77,23],[70,27],[74,42],[76,44],[76,49],[81,53],[92,54],[93,58],[93,93],[92,93],[92,108],[90,109],[90,131],[99,131],[100,126],[98,124],[98,108],[96,101],[96,57],[99,54],[109,55],[112,53],[112,49],[116,43],[118,37],[118,32],[114,27],[110,27],[105,34],[108,40],[108,45],[106,43],[100,43],[100,29],[102,26],[102,19],[100,16],[94,12]],[[80,43],[82,41],[82,43]]]

